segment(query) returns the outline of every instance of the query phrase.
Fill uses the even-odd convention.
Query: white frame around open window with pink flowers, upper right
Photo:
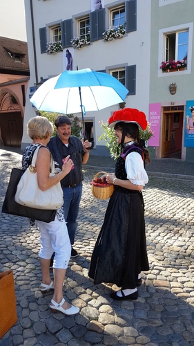
[[[189,74],[191,73],[191,58],[192,58],[192,46],[193,46],[193,22],[181,24],[178,26],[171,26],[169,28],[163,28],[159,30],[159,50],[158,50],[158,76],[166,77],[168,73],[162,73],[162,69],[159,69],[162,61],[164,61],[164,56],[166,55],[166,47],[165,47],[165,35],[168,33],[176,33],[181,30],[188,30],[188,55],[187,55],[187,69],[184,71],[177,71],[173,73],[182,73]],[[165,55],[164,55],[165,54]]]

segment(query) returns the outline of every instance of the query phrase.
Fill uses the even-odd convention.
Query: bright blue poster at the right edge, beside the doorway
[[[194,100],[186,101],[184,147],[194,147]]]

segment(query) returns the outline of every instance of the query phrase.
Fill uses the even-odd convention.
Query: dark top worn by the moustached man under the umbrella
[[[68,147],[66,147],[57,135],[50,138],[50,142],[47,146],[54,158],[54,161],[57,161],[60,168],[62,168],[63,164],[62,159],[66,158],[68,155],[70,155],[70,158],[74,163],[74,169],[61,180],[61,186],[68,187],[69,185],[72,186],[81,183],[84,179],[81,164],[85,154],[81,140],[75,136],[70,136]]]

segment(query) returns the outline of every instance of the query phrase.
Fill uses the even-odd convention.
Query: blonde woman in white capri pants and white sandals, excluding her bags
[[[49,190],[66,176],[72,169],[72,160],[68,157],[64,161],[61,172],[50,176],[50,152],[46,145],[53,133],[52,123],[47,118],[35,116],[28,121],[28,136],[32,139],[23,152],[22,167],[26,170],[31,164],[32,156],[35,149],[40,147],[36,168],[39,188],[42,191]],[[32,186],[33,188],[33,186]],[[61,311],[66,315],[75,315],[79,312],[78,307],[66,302],[63,297],[63,285],[66,275],[66,268],[70,259],[71,245],[68,237],[66,221],[64,220],[63,206],[57,210],[55,220],[50,223],[36,221],[40,231],[39,262],[41,265],[42,282],[40,286],[41,292],[53,289],[53,296],[50,302],[52,312]],[[50,278],[50,257],[55,252],[55,260],[53,262],[54,280]]]

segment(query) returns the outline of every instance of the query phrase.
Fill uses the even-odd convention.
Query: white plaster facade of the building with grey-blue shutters
[[[26,26],[28,35],[28,51],[30,59],[30,82],[29,86],[33,86],[35,82],[35,69],[33,63],[32,51],[32,33],[30,24],[29,2],[26,1]],[[104,5],[114,5],[118,1],[104,0]],[[43,28],[46,24],[53,21],[69,19],[75,15],[81,15],[84,12],[90,12],[90,0],[39,0],[33,1],[34,20],[35,20],[35,38],[37,51],[37,68],[38,78],[48,78],[58,75],[64,70],[63,53],[55,55],[47,55],[40,53],[39,28]],[[107,23],[106,23],[107,24]],[[112,42],[104,42],[102,39],[93,42],[90,46],[81,48],[70,47],[73,56],[73,69],[78,66],[79,69],[86,67],[93,70],[104,70],[108,66],[117,64],[136,64],[136,95],[130,95],[126,98],[126,107],[137,108],[144,111],[148,115],[149,103],[149,75],[150,75],[150,47],[151,47],[151,0],[137,1],[137,31],[126,34],[122,39],[116,39]],[[65,49],[66,51],[66,49]],[[27,95],[28,100],[28,95]],[[107,122],[111,113],[119,108],[119,104],[108,107],[99,112],[88,112],[87,118],[95,117],[95,143],[103,145],[97,138],[101,135],[101,127],[99,120]],[[24,131],[22,143],[28,143],[29,138],[25,128],[28,120],[35,116],[30,101],[26,102],[26,113],[24,119]],[[81,116],[81,114],[77,114]]]

